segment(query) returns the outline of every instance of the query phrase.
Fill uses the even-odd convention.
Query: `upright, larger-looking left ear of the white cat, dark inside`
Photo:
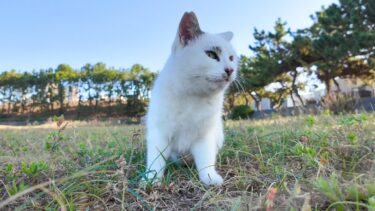
[[[191,40],[203,34],[199,27],[197,16],[194,12],[185,12],[178,27],[178,35],[182,46],[186,46]]]

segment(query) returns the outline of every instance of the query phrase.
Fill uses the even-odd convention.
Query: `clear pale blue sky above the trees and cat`
[[[197,14],[203,31],[232,31],[238,55],[249,55],[254,28],[272,30],[277,18],[292,30],[337,0],[14,0],[0,2],[0,72],[86,63],[160,71],[181,16]]]

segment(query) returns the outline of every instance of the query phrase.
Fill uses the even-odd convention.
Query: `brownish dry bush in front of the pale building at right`
[[[358,105],[358,98],[350,93],[335,92],[323,97],[322,106],[334,114],[353,113]]]

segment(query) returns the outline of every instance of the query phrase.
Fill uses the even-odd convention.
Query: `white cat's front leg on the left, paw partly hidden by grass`
[[[171,153],[168,138],[158,130],[151,129],[147,133],[147,169],[146,178],[160,182]]]

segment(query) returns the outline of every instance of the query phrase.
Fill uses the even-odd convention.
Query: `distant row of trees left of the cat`
[[[127,115],[142,115],[155,75],[139,64],[115,69],[104,63],[86,64],[80,70],[60,64],[56,69],[5,71],[0,74],[0,109],[5,116],[63,114],[72,109],[114,112],[117,106],[125,107]]]

